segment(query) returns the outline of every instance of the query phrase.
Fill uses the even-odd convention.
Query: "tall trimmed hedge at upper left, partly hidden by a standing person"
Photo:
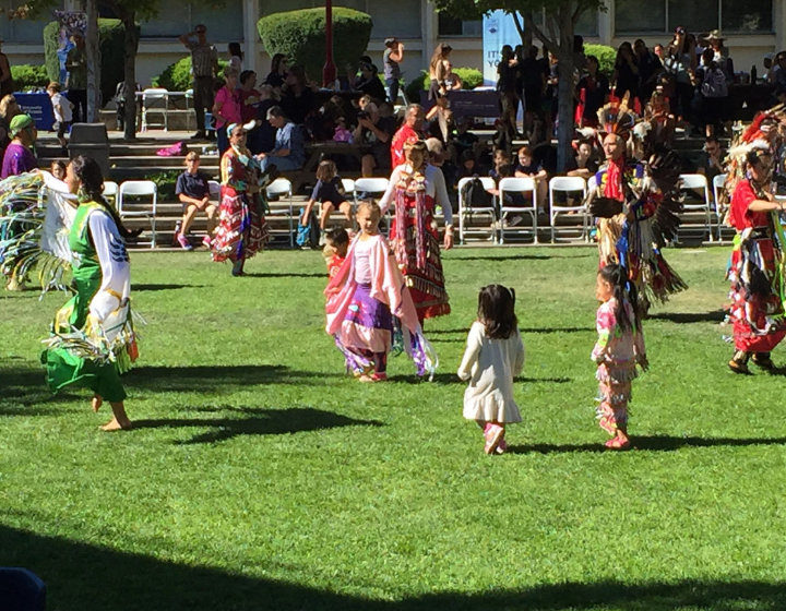
[[[139,29],[139,25],[136,26]],[[50,81],[58,81],[60,63],[57,57],[60,24],[49,22],[44,27],[44,63]],[[124,80],[124,36],[120,20],[98,20],[98,47],[102,55],[100,92],[103,104],[115,95],[117,84]]]

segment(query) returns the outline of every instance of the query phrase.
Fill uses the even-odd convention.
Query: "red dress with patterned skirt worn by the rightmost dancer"
[[[727,278],[731,283],[729,320],[735,349],[770,352],[786,335],[784,319],[784,244],[775,239],[774,215],[748,209],[758,197],[750,180],[741,180],[731,195],[729,223],[737,229]],[[775,225],[777,224],[777,226]]]

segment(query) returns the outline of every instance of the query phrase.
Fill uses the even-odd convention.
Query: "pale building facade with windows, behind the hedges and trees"
[[[15,5],[13,0],[0,0],[0,8]],[[99,1],[100,8],[100,1]],[[396,36],[404,41],[404,79],[412,80],[428,64],[431,51],[439,41],[453,47],[453,64],[481,69],[483,41],[480,22],[462,22],[444,13],[437,13],[428,0],[337,0],[336,5],[360,10],[371,15],[373,29],[369,55],[381,65],[383,40]],[[324,5],[320,0],[226,0],[222,10],[203,8],[199,3],[164,3],[158,16],[142,23],[136,76],[144,87],[168,64],[187,55],[177,37],[203,23],[209,40],[223,57],[231,41],[243,46],[243,67],[255,70],[263,79],[270,67],[259,34],[257,21],[271,13]],[[643,38],[647,46],[667,44],[677,26],[700,33],[719,29],[738,71],[757,65],[764,73],[765,53],[786,49],[786,0],[606,0],[606,11],[584,15],[577,33],[586,43],[612,47],[623,40]],[[75,2],[66,0],[63,8],[74,10]],[[114,16],[102,11],[102,16]],[[0,21],[3,51],[12,64],[43,63],[43,26],[50,20]],[[535,40],[538,44],[537,40]]]

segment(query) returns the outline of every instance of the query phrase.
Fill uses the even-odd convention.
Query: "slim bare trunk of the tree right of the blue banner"
[[[565,166],[571,154],[571,142],[575,125],[573,122],[573,15],[569,5],[560,7],[558,14],[559,23],[559,83],[558,83],[558,106],[557,106],[557,171],[565,171]]]

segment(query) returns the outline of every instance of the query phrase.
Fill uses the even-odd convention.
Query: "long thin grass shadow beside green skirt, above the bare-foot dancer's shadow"
[[[143,366],[129,371],[123,383],[129,388],[189,392],[235,385],[319,384],[325,378],[344,375],[294,370],[283,364]]]

